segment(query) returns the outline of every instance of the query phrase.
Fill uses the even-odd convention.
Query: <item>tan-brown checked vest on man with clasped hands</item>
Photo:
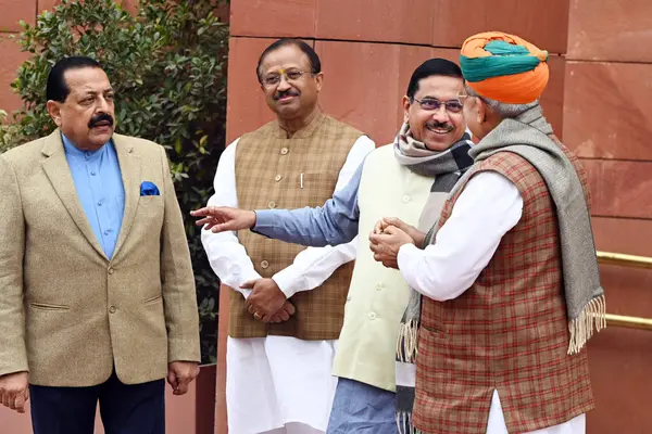
[[[361,131],[324,114],[289,139],[276,120],[242,136],[236,150],[238,206],[293,209],[323,205],[333,196],[340,169],[361,136]],[[240,231],[238,238],[263,278],[291,265],[305,248],[249,230]],[[294,294],[290,303],[297,311],[280,323],[254,320],[242,295],[231,291],[229,336],[337,340],[352,269],[352,263],[346,264],[319,288]]]

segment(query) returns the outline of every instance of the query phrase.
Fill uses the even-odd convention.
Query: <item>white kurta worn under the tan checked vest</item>
[[[223,152],[215,174],[215,194],[209,205],[238,206],[236,148]],[[367,137],[352,146],[336,190],[351,179],[375,148]],[[202,231],[202,242],[222,283],[249,296],[240,285],[260,279],[235,232]],[[309,247],[272,279],[289,298],[321,285],[342,264],[355,258],[356,241],[336,247]],[[312,434],[325,432],[337,379],[330,374],[337,341],[302,341],[287,336],[231,339],[226,354],[226,405],[229,432]]]

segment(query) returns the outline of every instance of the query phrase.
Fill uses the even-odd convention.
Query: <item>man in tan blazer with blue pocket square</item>
[[[162,146],[114,135],[100,65],[50,72],[50,136],[0,155],[0,398],[36,434],[165,432],[164,379],[200,360],[193,273]],[[29,384],[29,386],[28,386]]]

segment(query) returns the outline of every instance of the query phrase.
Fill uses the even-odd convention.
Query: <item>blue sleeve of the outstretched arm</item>
[[[362,167],[324,206],[298,209],[256,209],[252,231],[288,243],[322,247],[348,243],[358,235],[358,189]]]

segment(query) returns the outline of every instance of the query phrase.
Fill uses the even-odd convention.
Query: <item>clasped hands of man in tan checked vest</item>
[[[240,288],[251,290],[247,297],[247,311],[253,315],[254,319],[263,322],[283,322],[294,315],[294,306],[288,302],[274,279],[250,280]]]

